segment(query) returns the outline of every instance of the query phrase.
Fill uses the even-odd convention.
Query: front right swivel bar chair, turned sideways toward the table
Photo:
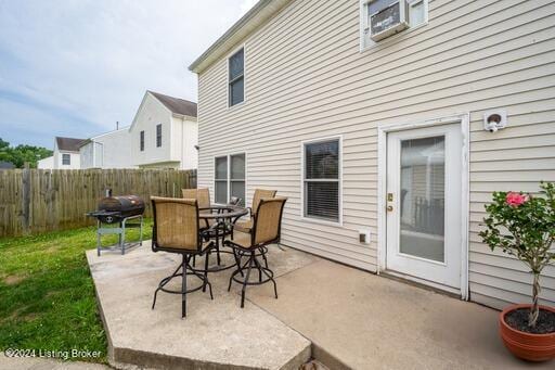
[[[231,275],[228,291],[231,290],[233,281],[243,285],[241,290],[241,308],[245,307],[245,291],[247,285],[260,285],[271,281],[275,298],[278,299],[278,285],[273,279],[273,271],[262,266],[258,260],[259,256],[266,259],[267,245],[278,243],[281,235],[283,207],[286,197],[261,199],[253,220],[253,229],[249,233],[237,231],[232,240],[225,240],[224,244],[236,250],[242,257],[246,257],[245,264],[237,264],[237,269]],[[250,280],[251,270],[258,271],[258,281]],[[243,272],[246,270],[246,276]],[[241,275],[243,278],[240,278]],[[266,276],[266,277],[264,277]]]

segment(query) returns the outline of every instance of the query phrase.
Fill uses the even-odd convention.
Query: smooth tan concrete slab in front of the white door
[[[278,279],[280,299],[249,299],[313,343],[330,369],[554,369],[514,358],[498,311],[408,283],[319,260]]]

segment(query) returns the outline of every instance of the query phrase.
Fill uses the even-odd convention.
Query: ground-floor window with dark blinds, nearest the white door
[[[304,144],[304,216],[340,222],[340,139]]]

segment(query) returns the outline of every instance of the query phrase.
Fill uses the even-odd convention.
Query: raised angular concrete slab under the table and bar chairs
[[[103,253],[98,257],[95,251],[88,251],[87,258],[109,342],[108,358],[115,367],[297,369],[310,358],[310,342],[298,332],[249,302],[240,308],[238,284],[227,291],[231,270],[209,275],[214,301],[202,291],[188,295],[188,317],[181,319],[179,295],[160,292],[156,308],[151,309],[154,290],[177,268],[179,256],[153,253],[146,242],[125,256]],[[224,255],[224,263],[230,259]],[[317,260],[278,247],[269,255],[278,276]],[[193,286],[198,280],[190,277],[188,281]],[[247,297],[253,291],[247,291]]]

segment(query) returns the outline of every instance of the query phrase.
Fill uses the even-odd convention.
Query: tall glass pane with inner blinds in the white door
[[[444,261],[446,138],[401,141],[399,251]]]

